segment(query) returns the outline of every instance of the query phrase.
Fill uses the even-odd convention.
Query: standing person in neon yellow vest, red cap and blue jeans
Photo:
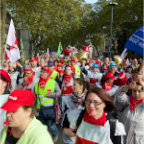
[[[60,96],[61,90],[57,82],[49,77],[49,73],[48,67],[42,67],[40,80],[35,85],[36,108],[41,122],[48,126],[53,141],[56,142],[58,140],[58,130],[55,125],[54,103],[56,96]]]

